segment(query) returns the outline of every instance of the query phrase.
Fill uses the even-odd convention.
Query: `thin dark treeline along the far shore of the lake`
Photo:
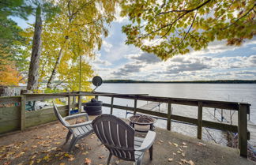
[[[218,81],[132,81],[132,80],[107,80],[104,83],[209,83],[209,84],[256,84],[246,80],[218,80]]]

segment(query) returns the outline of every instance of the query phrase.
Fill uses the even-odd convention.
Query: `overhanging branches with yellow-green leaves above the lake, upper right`
[[[254,0],[157,1],[124,0],[122,27],[126,44],[154,53],[163,60],[201,50],[213,40],[239,46],[256,34]]]

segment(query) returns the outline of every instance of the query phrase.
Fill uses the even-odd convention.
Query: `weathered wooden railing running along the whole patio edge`
[[[105,92],[66,92],[56,94],[24,94],[23,96],[12,96],[12,97],[0,97],[1,103],[16,103],[16,107],[0,107],[0,133],[7,133],[17,129],[24,130],[30,126],[38,126],[43,123],[51,122],[56,120],[53,108],[47,108],[40,111],[25,111],[25,103],[28,101],[43,101],[46,99],[56,98],[67,98],[68,104],[59,107],[60,112],[63,116],[70,115],[70,109],[77,107],[81,112],[81,96],[105,96],[111,97],[111,103],[104,103],[104,107],[110,107],[111,114],[113,109],[121,109],[127,111],[134,111],[143,114],[150,114],[160,118],[167,119],[167,129],[171,130],[171,120],[179,122],[193,124],[198,126],[198,139],[201,139],[202,127],[208,127],[211,129],[219,129],[224,131],[231,131],[233,133],[239,133],[239,151],[241,156],[247,157],[247,139],[250,137],[250,133],[247,132],[247,114],[250,114],[249,103],[236,103],[236,102],[223,102],[205,99],[180,99],[170,97],[159,97],[159,96],[147,96],[145,94],[116,94],[116,93],[105,93]],[[71,99],[77,97],[78,101]],[[114,99],[133,99],[134,107],[125,107],[121,105],[115,105]],[[74,99],[73,99],[74,100]],[[167,103],[167,113],[157,111],[147,111],[137,107],[137,101],[152,101],[159,103]],[[198,107],[198,118],[189,118],[180,115],[171,114],[171,105],[186,105]],[[238,111],[238,126],[228,125],[220,122],[211,122],[202,119],[203,107],[220,108],[226,111],[233,110]]]

